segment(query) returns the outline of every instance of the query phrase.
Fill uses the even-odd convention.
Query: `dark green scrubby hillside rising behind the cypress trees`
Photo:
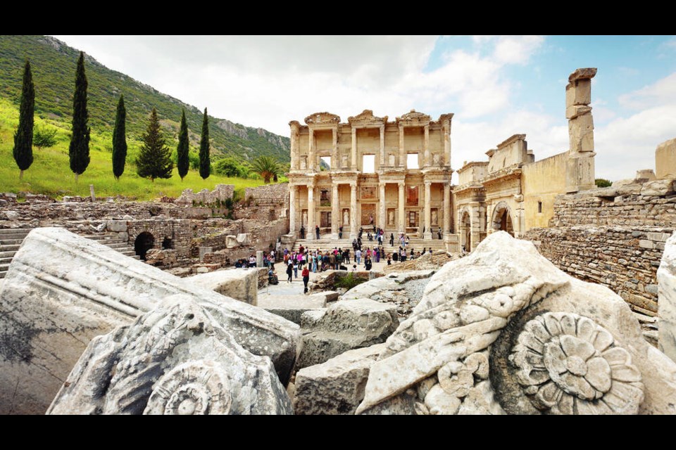
[[[36,115],[57,126],[70,127],[77,56],[78,50],[53,37],[0,36],[0,98],[18,105],[23,64],[28,59],[35,82]],[[199,146],[201,112],[197,108],[110,70],[91,56],[87,56],[85,65],[89,82],[89,126],[93,133],[101,136],[104,150],[112,147],[108,137],[112,134],[120,94],[125,96],[127,137],[131,141],[139,139],[150,110],[155,107],[170,143],[175,146],[181,108],[185,108],[191,150]],[[216,117],[210,117],[209,125],[212,161],[227,155],[244,160],[269,155],[280,162],[289,162],[287,137]]]

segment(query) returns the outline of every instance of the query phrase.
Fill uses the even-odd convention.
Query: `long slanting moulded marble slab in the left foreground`
[[[62,228],[25,238],[0,291],[0,413],[44,413],[90,340],[192,295],[287,383],[299,327]]]

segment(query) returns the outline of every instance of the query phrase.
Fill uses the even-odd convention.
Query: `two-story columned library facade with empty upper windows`
[[[373,111],[341,123],[315,113],[291,127],[289,233],[356,238],[360,227],[431,239],[451,233],[451,119]]]

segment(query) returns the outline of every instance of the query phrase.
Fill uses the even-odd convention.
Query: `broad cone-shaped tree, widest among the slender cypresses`
[[[143,135],[143,145],[136,160],[136,172],[142,178],[155,182],[156,178],[171,178],[174,162],[160,130],[155,108],[150,113],[148,128]]]

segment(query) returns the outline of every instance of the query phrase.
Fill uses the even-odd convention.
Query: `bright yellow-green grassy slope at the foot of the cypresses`
[[[112,195],[125,195],[138,200],[168,195],[177,197],[185,188],[192,188],[195,192],[201,189],[213,189],[216,184],[234,184],[235,188],[260,186],[261,180],[227,178],[225,176],[211,175],[203,180],[199,173],[190,170],[183,181],[174,169],[174,175],[170,179],[157,179],[152,183],[148,179],[139,178],[136,167],[130,162],[137,153],[139,143],[128,140],[129,155],[125,173],[120,181],[115,181],[113,176],[113,163],[111,162],[111,136],[98,134],[92,130],[92,141],[89,144],[89,167],[80,176],[75,184],[73,172],[70,172],[68,164],[68,143],[70,130],[58,120],[43,120],[36,117],[37,127],[56,127],[58,129],[58,143],[54,148],[37,150],[33,148],[33,164],[19,181],[19,169],[16,167],[12,156],[13,133],[18,124],[18,108],[11,102],[0,98],[0,192],[19,191],[32,193],[45,193],[48,195],[89,195],[89,184],[94,185],[96,195],[100,197]]]

